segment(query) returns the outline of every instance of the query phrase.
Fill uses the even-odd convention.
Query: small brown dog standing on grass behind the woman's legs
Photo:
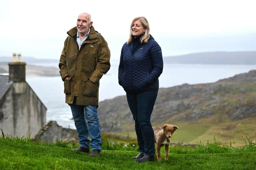
[[[162,128],[158,126],[153,127],[156,143],[156,155],[158,161],[161,160],[160,150],[162,146],[165,146],[165,160],[168,160],[170,139],[176,129],[179,128],[177,126],[168,124],[162,125]]]

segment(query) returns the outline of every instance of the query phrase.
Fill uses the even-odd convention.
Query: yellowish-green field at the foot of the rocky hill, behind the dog
[[[215,117],[213,117],[214,119]],[[213,119],[202,119],[198,122],[172,122],[170,124],[177,125],[178,130],[174,132],[171,142],[183,144],[198,144],[199,141],[206,145],[209,139],[213,136],[222,144],[230,145],[233,147],[244,146],[243,133],[246,133],[252,141],[256,141],[256,119],[246,118],[240,121],[223,121],[222,123],[214,124]],[[166,122],[167,123],[167,122]],[[159,125],[158,125],[159,126]],[[135,131],[114,133],[127,137],[136,137]],[[106,140],[112,140],[106,138]]]

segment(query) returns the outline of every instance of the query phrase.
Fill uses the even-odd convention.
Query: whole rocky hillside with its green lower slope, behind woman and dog
[[[126,96],[100,102],[98,115],[102,132],[134,131]],[[256,70],[214,83],[160,88],[151,122],[177,125],[178,142],[197,143],[215,136],[241,145],[241,132],[255,139]]]

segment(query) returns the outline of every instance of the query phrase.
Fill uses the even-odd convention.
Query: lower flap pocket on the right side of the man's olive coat
[[[90,80],[84,80],[82,94],[84,96],[97,96],[98,95],[98,83],[94,83]]]

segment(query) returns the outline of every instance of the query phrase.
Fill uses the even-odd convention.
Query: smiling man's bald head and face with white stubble
[[[89,31],[89,28],[92,26],[92,21],[87,14],[80,14],[76,21],[76,27],[80,34],[86,35]]]

